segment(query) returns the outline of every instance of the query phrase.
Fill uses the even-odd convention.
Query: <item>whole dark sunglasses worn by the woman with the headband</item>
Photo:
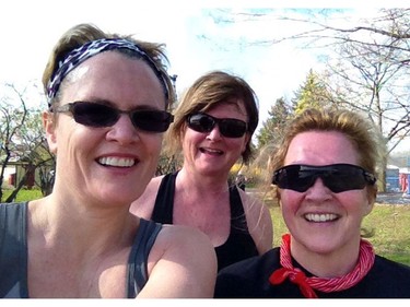
[[[174,116],[164,110],[120,110],[107,105],[89,102],[70,103],[54,108],[51,111],[71,113],[78,123],[95,128],[114,126],[121,114],[127,114],[136,128],[148,132],[164,132],[174,120]]]

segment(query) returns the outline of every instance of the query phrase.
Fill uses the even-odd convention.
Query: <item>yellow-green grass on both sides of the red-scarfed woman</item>
[[[279,206],[270,206],[273,221],[273,246],[279,246],[288,233]],[[376,204],[363,221],[363,227],[373,234],[367,238],[377,255],[410,265],[410,205]]]

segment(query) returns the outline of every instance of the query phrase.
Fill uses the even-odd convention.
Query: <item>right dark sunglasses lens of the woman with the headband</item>
[[[136,110],[131,114],[131,120],[137,128],[149,132],[165,132],[173,116],[162,110]]]

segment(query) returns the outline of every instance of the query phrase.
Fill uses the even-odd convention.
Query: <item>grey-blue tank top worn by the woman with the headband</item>
[[[128,298],[134,298],[147,283],[147,259],[161,228],[141,219],[128,259]],[[27,202],[0,203],[0,297],[28,298],[26,235]]]

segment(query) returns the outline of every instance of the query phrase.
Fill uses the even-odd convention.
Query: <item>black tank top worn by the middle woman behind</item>
[[[161,181],[151,220],[162,224],[173,224],[175,179],[178,172],[167,174]],[[204,204],[206,205],[206,204]],[[258,249],[249,235],[244,206],[235,186],[230,187],[231,232],[227,240],[215,247],[218,270],[234,262],[257,256]]]

